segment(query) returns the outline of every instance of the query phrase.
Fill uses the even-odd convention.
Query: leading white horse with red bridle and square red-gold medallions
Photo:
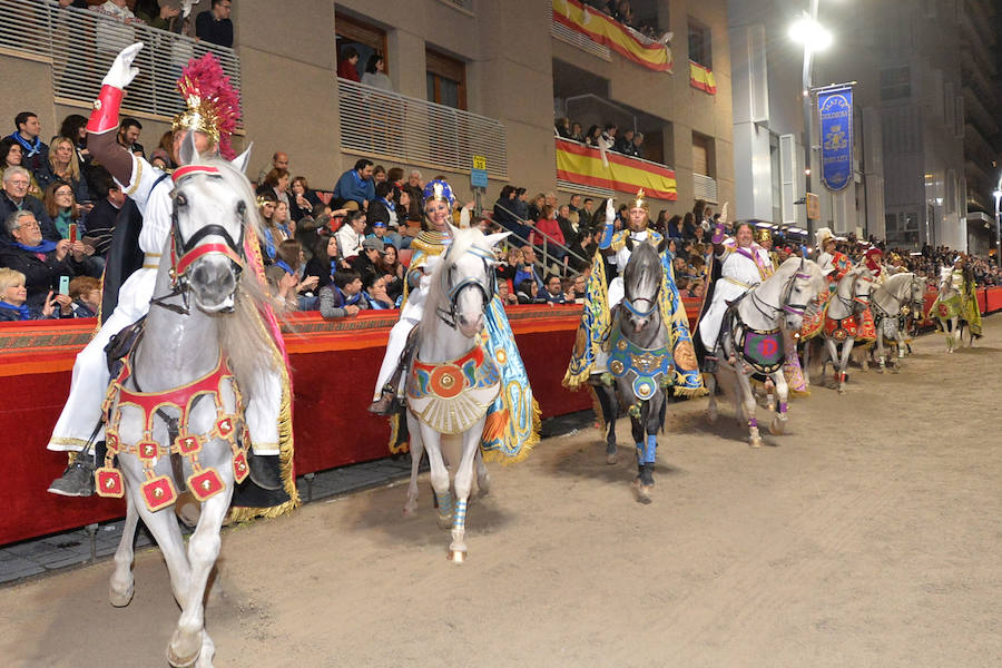
[[[208,159],[176,179],[173,230],[155,297],[109,389],[108,453],[96,472],[98,493],[127,501],[111,605],[127,606],[132,598],[132,541],[143,519],[164,553],[181,608],[167,648],[175,667],[213,664],[215,645],[205,631],[203,605],[206,582],[234,484],[248,472],[243,409],[262,395],[258,370],[274,364],[268,334],[257,320],[263,288],[253,274],[244,276],[245,240],[256,244],[258,229],[254,195],[243,175],[245,156],[240,167]],[[116,454],[120,474],[112,464]],[[187,550],[173,509],[185,487],[202,502]]]

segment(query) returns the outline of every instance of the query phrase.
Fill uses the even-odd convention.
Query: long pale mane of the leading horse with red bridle
[[[244,202],[245,245],[255,249],[259,247],[262,218],[247,177],[220,157],[202,157],[195,164],[217,168],[226,185]],[[272,302],[268,299],[267,286],[253,268],[255,264],[253,258],[247,258],[234,295],[234,312],[219,318],[219,346],[229,361],[230,371],[244,395],[245,406],[266,391],[262,371],[273,369],[276,363],[274,340],[262,315],[265,306]]]

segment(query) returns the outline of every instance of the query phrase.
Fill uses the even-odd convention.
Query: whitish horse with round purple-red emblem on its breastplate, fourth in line
[[[752,375],[758,373],[772,379],[779,395],[779,410],[769,431],[774,434],[785,431],[789,386],[783,365],[787,346],[794,345],[788,333],[800,328],[804,311],[824,288],[825,278],[816,263],[790,257],[772,276],[730,305],[716,346],[717,371],[707,374],[707,419],[710,423],[717,421],[716,386],[719,383],[726,387],[724,381],[729,380],[738,425],[747,420],[749,444],[753,448],[762,445],[755,418],[757,402],[752,389]]]

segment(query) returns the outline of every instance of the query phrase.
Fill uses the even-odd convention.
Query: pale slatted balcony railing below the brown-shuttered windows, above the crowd
[[[508,178],[504,126],[495,118],[347,79],[337,79],[337,98],[343,149],[461,173],[483,156],[488,175]]]

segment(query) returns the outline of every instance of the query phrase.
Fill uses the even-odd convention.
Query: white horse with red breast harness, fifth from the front
[[[822,331],[825,347],[822,351],[822,371],[818,383],[823,383],[825,367],[831,360],[839,394],[845,394],[845,370],[848,367],[853,345],[856,342],[859,317],[870,306],[872,292],[873,273],[864,265],[859,265],[842,277],[825,311],[825,327]],[[839,344],[842,345],[841,354]],[[806,367],[804,373],[807,373]]]

